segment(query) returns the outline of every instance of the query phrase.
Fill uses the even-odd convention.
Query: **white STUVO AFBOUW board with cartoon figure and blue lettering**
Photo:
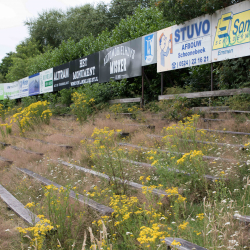
[[[211,62],[212,17],[205,15],[157,32],[157,72]]]

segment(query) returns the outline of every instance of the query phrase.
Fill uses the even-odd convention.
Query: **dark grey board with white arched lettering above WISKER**
[[[141,39],[100,51],[99,82],[141,76]]]

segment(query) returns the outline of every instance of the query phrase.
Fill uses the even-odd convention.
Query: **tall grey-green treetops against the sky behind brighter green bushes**
[[[96,6],[85,4],[61,10],[48,10],[38,18],[25,22],[30,37],[36,40],[42,52],[47,46],[58,47],[63,41],[72,39],[79,42],[83,37],[97,37],[102,31],[111,31],[128,15],[133,15],[136,8],[149,7],[152,0],[112,0],[108,6],[99,3]]]

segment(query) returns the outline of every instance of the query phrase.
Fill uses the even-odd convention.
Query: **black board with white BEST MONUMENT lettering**
[[[70,62],[70,86],[99,82],[99,52]]]

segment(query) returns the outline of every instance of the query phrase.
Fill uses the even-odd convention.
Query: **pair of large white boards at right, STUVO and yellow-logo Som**
[[[157,72],[250,55],[250,2],[157,32]]]

